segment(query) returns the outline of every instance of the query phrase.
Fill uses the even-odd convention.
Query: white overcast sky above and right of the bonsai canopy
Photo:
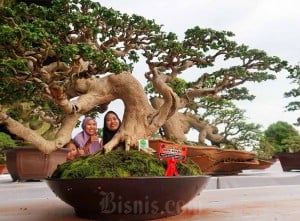
[[[183,36],[188,28],[199,26],[232,31],[232,40],[266,51],[291,64],[300,61],[299,0],[98,0],[128,14],[142,15],[162,24],[165,32]],[[145,70],[135,69],[144,73]],[[266,129],[279,120],[296,122],[299,112],[286,112],[289,100],[283,93],[291,87],[282,73],[275,81],[248,87],[256,96],[252,102],[238,103],[249,122]],[[113,109],[114,106],[110,106]],[[115,110],[119,111],[119,110]],[[100,121],[102,124],[102,121]],[[99,125],[102,127],[102,125]],[[299,128],[297,128],[299,129]]]

